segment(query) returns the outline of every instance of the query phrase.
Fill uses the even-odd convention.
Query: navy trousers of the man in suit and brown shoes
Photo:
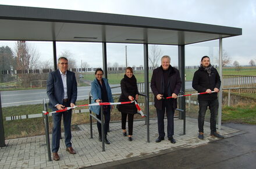
[[[65,107],[70,106],[70,102],[63,102]],[[59,150],[59,139],[61,139],[61,117],[63,115],[63,124],[65,130],[65,144],[66,147],[72,146],[71,144],[71,116],[72,111],[59,112],[52,114],[52,121],[54,126],[52,128],[52,152],[58,152]]]

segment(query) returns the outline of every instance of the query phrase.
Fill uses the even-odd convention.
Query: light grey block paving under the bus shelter
[[[122,136],[120,125],[120,122],[110,124],[111,132],[108,138],[111,144],[105,145],[105,152],[102,152],[101,142],[98,142],[97,126],[93,125],[94,138],[91,139],[90,126],[80,125],[81,130],[72,133],[73,148],[77,154],[67,153],[64,139],[61,139],[59,161],[48,161],[43,135],[6,140],[7,146],[0,148],[0,168],[84,168],[98,164],[103,168],[154,157],[166,152],[175,152],[179,149],[194,148],[217,140],[209,135],[209,123],[205,123],[206,138],[199,140],[197,120],[189,118],[186,120],[186,135],[183,135],[183,120],[175,119],[176,144],[171,144],[168,139],[155,143],[158,137],[156,119],[150,120],[150,143],[147,142],[147,127],[144,121],[134,122],[134,140],[131,142],[127,137]],[[244,131],[226,126],[223,126],[219,132],[226,138],[244,133]]]

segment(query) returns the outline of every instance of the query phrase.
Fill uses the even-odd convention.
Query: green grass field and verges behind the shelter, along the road
[[[186,79],[191,80],[193,78],[194,71],[196,69],[187,69],[186,70]],[[238,72],[232,68],[224,68],[223,74],[237,74]],[[241,75],[256,75],[256,69],[253,68],[243,68],[239,71]],[[150,78],[152,76],[152,71],[149,72]],[[108,74],[109,83],[111,84],[120,84],[120,80],[123,78],[124,72],[116,72]],[[144,82],[144,71],[135,71],[134,75],[137,78],[137,82]],[[93,80],[95,78],[94,73],[84,73],[84,78],[86,80]],[[21,90],[21,89],[16,89]],[[254,93],[239,93],[233,92],[232,95],[238,95],[241,98],[241,101],[236,105],[230,107],[223,105],[222,120],[223,122],[237,122],[237,123],[247,123],[247,124],[256,124],[256,106],[252,104],[256,100],[256,94]],[[244,101],[243,98],[250,98],[251,101]],[[116,98],[117,101],[118,98]],[[152,97],[150,97],[152,101]],[[144,102],[144,99],[141,97],[139,102]],[[88,103],[88,100],[78,101],[77,105]],[[141,106],[144,110],[144,107]],[[18,115],[29,115],[34,113],[42,112],[42,104],[37,105],[22,105],[22,106],[10,106],[2,108],[3,112],[3,124],[5,128],[5,138],[19,138],[19,137],[29,137],[33,135],[42,135],[44,134],[44,119],[42,117],[37,117],[33,119],[23,119],[23,120],[12,120],[6,121],[6,116],[18,116]],[[191,117],[197,116],[198,107],[193,106],[190,108],[190,113],[187,108],[187,115]],[[150,117],[156,117],[154,106],[150,105]],[[72,115],[72,130],[78,130],[77,124],[88,123],[88,113],[75,113]],[[136,115],[137,119],[141,117]],[[117,109],[114,109],[112,112],[111,120],[120,120],[120,112]],[[52,119],[49,117],[50,128],[52,127]]]

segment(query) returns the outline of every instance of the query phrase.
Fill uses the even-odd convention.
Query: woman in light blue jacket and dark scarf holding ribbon
[[[103,76],[103,70],[101,68],[96,69],[95,79],[93,80],[93,82],[91,82],[91,95],[93,95],[92,103],[113,102],[112,92],[108,84],[108,79],[102,78],[102,76]],[[106,134],[108,133],[111,109],[112,109],[112,106],[110,105],[104,105],[103,107],[104,133],[105,133],[104,141],[106,144],[110,144],[110,142],[106,138]],[[90,110],[96,113],[96,116],[98,119],[101,119],[100,106],[90,106]],[[101,123],[97,122],[97,127],[99,131],[99,141],[102,141]]]

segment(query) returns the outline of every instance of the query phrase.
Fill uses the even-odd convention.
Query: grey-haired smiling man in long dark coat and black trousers
[[[154,69],[151,78],[151,90],[155,96],[155,108],[157,108],[158,134],[159,137],[155,142],[161,142],[165,138],[163,119],[167,117],[167,136],[171,143],[175,144],[173,138],[174,126],[173,116],[177,108],[177,95],[180,92],[182,81],[180,73],[176,68],[170,65],[170,57],[163,56],[161,58],[161,67]],[[164,97],[172,96],[168,100]]]

